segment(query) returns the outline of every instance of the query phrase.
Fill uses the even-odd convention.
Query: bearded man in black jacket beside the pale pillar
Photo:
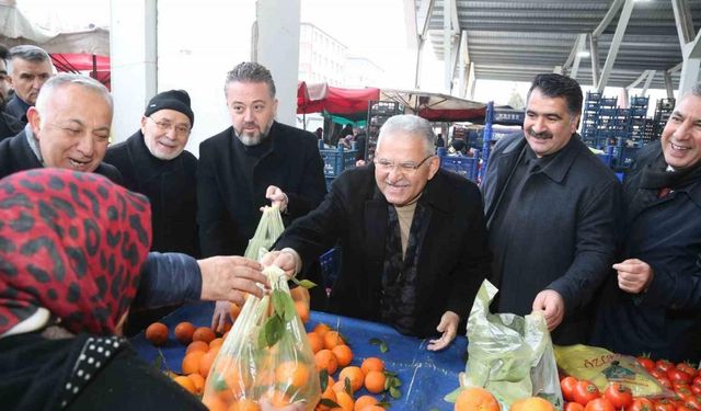
[[[234,67],[225,94],[232,126],[199,145],[197,224],[204,256],[242,255],[260,208],[271,201],[287,225],[326,194],[317,138],[275,121],[275,82],[265,67]],[[220,312],[215,322],[222,324]]]

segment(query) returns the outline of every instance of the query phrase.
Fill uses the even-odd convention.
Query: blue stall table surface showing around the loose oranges
[[[164,366],[180,372],[185,355],[185,346],[173,336],[175,326],[182,321],[189,321],[195,327],[209,326],[212,311],[211,302],[189,305],[161,320],[170,330],[168,342],[160,347]],[[359,366],[363,358],[377,356],[384,361],[388,370],[399,375],[402,380],[402,397],[390,401],[392,410],[452,410],[452,404],[444,401],[443,398],[458,387],[458,373],[464,370],[467,350],[464,336],[458,336],[444,351],[430,352],[426,350],[428,339],[402,335],[384,324],[312,311],[307,330],[319,322],[325,322],[338,329],[348,340],[348,345],[354,353],[352,365]],[[370,339],[380,339],[389,350],[381,353],[378,345],[369,342]],[[157,361],[159,350],[146,340],[142,332],[131,339],[131,343],[143,359],[149,363]],[[367,392],[363,390],[361,393]]]

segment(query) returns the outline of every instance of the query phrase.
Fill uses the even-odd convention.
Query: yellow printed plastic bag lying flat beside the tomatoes
[[[662,397],[667,390],[635,358],[589,345],[555,346],[558,367],[577,379],[587,379],[604,391],[609,383],[630,388],[634,397]]]

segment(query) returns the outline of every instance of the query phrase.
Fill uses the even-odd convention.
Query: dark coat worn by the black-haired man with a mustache
[[[589,302],[613,263],[621,186],[574,135],[548,165],[526,176],[520,197],[499,201],[526,145],[522,134],[502,138],[482,183],[490,230],[496,207],[519,205],[504,217],[503,232],[490,231],[490,243],[507,244],[508,250],[502,272],[492,276],[499,288],[495,309],[528,315],[536,295],[553,289],[565,302],[553,342],[583,343],[591,322]]]

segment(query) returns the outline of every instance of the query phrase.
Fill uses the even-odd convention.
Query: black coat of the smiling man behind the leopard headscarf
[[[0,178],[18,171],[41,169],[44,164],[36,157],[26,140],[26,132],[0,141]],[[105,162],[100,163],[94,171],[104,175],[116,184],[122,184],[122,174],[114,167]]]

